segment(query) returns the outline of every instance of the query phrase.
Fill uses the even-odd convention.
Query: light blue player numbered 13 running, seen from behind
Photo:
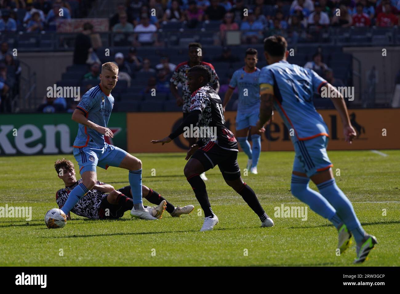
[[[340,98],[332,98],[332,102],[342,120],[346,142],[351,143],[356,132],[342,95],[313,70],[289,64],[286,61],[289,54],[287,45],[282,36],[270,36],[264,40],[264,54],[269,65],[264,66],[260,73],[258,128],[270,119],[275,106],[286,127],[293,129],[295,134],[292,136],[296,152],[290,185],[292,194],[332,222],[339,233],[340,252],[350,246],[353,234],[357,243],[354,263],[364,262],[377,241],[374,236],[366,234],[350,200],[336,185],[331,169],[333,165],[326,153],[328,127],[314,108],[313,93],[320,92],[322,87],[327,87],[329,92],[335,91],[337,96],[334,97]],[[308,187],[310,179],[319,193]]]

